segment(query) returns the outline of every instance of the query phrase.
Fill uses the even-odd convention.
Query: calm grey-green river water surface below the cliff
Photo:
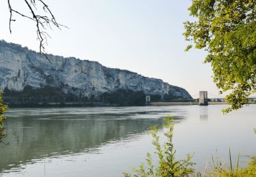
[[[225,106],[10,109],[10,145],[0,145],[0,176],[122,176],[154,152],[149,127],[171,114],[177,158],[195,153],[203,171],[211,156],[256,154],[256,105],[223,116]],[[160,136],[163,132],[160,130]],[[243,166],[248,159],[241,158]],[[156,163],[156,161],[154,161]]]

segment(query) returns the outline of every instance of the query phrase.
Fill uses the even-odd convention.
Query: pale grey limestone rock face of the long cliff
[[[0,88],[22,92],[25,86],[33,89],[51,86],[61,88],[63,93],[86,97],[124,88],[148,95],[191,98],[184,88],[131,71],[104,67],[96,61],[52,54],[48,54],[48,59],[51,63],[38,52],[0,40]]]

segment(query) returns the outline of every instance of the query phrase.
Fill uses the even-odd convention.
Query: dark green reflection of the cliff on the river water
[[[5,141],[10,146],[0,145],[0,172],[21,163],[33,163],[33,159],[88,152],[111,141],[131,140],[132,135],[147,131],[152,125],[162,125],[162,117],[168,112],[100,109],[100,113],[90,108],[10,110],[5,124]]]

